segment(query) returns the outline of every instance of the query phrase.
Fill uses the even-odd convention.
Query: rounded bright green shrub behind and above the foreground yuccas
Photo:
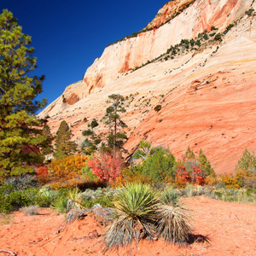
[[[137,168],[142,176],[162,181],[174,179],[175,165],[175,157],[169,149],[156,147],[151,149],[148,158]]]

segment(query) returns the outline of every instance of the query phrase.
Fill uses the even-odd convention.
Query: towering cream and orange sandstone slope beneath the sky
[[[180,6],[182,13],[169,20]],[[39,117],[48,115],[54,132],[65,119],[74,139],[81,140],[84,117],[102,117],[108,95],[119,93],[128,97],[125,147],[130,151],[142,138],[169,147],[177,157],[188,146],[202,148],[216,172],[232,172],[245,148],[256,151],[256,19],[245,15],[250,8],[256,9],[253,0],[166,3],[148,24],[154,29],[108,46],[84,80],[69,85]],[[208,32],[200,46],[181,46],[172,58],[156,59],[212,26],[224,32],[221,42]],[[158,113],[156,104],[162,106]]]

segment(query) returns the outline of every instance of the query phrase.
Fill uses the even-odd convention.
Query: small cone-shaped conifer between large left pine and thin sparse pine
[[[69,129],[66,121],[63,120],[56,133],[55,158],[61,159],[76,151],[77,145],[71,141],[71,137],[72,131]]]

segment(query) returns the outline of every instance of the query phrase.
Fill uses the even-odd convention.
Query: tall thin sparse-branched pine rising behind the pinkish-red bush
[[[119,94],[112,94],[108,96],[111,106],[106,109],[106,113],[102,120],[110,127],[108,135],[108,147],[113,148],[113,154],[116,155],[116,150],[123,148],[125,141],[128,139],[124,132],[120,129],[127,127],[121,120],[119,113],[125,113],[123,107],[125,98]]]

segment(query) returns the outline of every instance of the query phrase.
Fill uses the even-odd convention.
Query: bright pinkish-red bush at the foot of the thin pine
[[[97,153],[87,162],[91,172],[96,174],[101,180],[114,182],[121,175],[123,159],[120,155],[114,158],[112,154],[106,152]]]

